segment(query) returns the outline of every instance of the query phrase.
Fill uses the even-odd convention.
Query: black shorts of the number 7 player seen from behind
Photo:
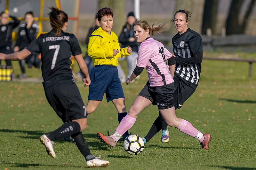
[[[54,84],[44,89],[45,96],[63,123],[86,118],[84,102],[74,82]]]

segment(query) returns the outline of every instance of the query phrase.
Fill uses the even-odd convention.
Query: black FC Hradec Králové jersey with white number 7
[[[70,57],[82,53],[74,34],[62,31],[60,36],[55,36],[55,33],[51,30],[41,34],[27,47],[34,55],[41,53],[42,75],[47,86],[73,81]]]

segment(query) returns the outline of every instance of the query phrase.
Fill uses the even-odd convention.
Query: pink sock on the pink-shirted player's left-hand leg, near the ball
[[[128,131],[132,126],[133,124],[135,123],[136,121],[136,118],[130,116],[130,115],[126,115],[122,121],[120,122],[120,124],[118,125],[118,127],[116,128],[116,132],[119,133],[121,136],[124,135],[124,133],[126,131]],[[116,141],[116,138],[111,135],[111,137]],[[117,142],[117,141],[116,141]]]

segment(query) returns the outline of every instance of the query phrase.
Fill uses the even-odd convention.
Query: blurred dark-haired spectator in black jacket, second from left
[[[18,52],[23,50],[25,47],[27,47],[34,39],[36,39],[36,35],[38,32],[38,25],[34,23],[34,13],[32,11],[28,11],[25,14],[25,24],[21,24],[18,32],[18,38],[16,41],[16,45],[13,48],[14,52]],[[37,59],[35,56],[29,56],[29,59],[35,60]],[[40,60],[36,60],[39,63],[40,67]],[[20,62],[20,69],[21,74],[19,78],[25,78],[25,60],[19,60]],[[28,63],[32,66],[31,60],[28,60]]]

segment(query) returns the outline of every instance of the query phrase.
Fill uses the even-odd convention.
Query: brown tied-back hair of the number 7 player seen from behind
[[[58,8],[51,7],[52,11],[48,13],[50,18],[50,23],[52,28],[56,31],[55,36],[61,35],[61,28],[65,24],[65,22],[68,22],[68,14],[64,11],[59,10]]]

